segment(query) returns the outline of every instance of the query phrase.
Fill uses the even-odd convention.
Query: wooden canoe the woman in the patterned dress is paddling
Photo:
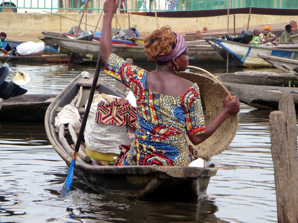
[[[91,77],[92,78],[92,77]],[[57,107],[62,108],[70,103],[80,86],[83,87],[82,100],[79,103],[79,112],[84,113],[82,106],[89,97],[92,80],[75,78],[50,104],[46,111],[45,127],[50,143],[66,162],[67,166],[72,161],[72,156],[67,152],[70,145],[64,140],[59,140],[58,129],[54,122],[57,116]],[[96,94],[105,93],[119,97],[125,94],[103,80],[98,80]],[[63,130],[62,130],[63,131]],[[68,142],[72,142],[68,131],[64,131]],[[61,137],[62,134],[60,134]],[[62,138],[60,138],[62,139]],[[72,143],[74,144],[74,143]],[[82,148],[82,147],[81,147]],[[201,198],[206,196],[206,189],[210,177],[217,172],[217,167],[211,164],[208,168],[200,167],[165,167],[165,166],[92,166],[88,163],[86,153],[77,158],[74,168],[75,177],[90,188],[99,192],[122,194],[136,199],[150,198]]]

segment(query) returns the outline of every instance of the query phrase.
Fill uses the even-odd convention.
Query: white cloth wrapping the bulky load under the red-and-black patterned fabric
[[[94,95],[84,132],[85,143],[89,150],[101,153],[119,154],[119,145],[131,144],[133,142],[133,139],[128,139],[127,137],[125,125],[95,123],[98,103],[100,101],[111,103],[115,98],[119,97],[106,94]],[[87,103],[88,101],[86,105]]]

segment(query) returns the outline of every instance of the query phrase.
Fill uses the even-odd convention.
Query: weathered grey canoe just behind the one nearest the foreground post
[[[206,74],[208,76],[208,74]],[[289,73],[273,73],[266,71],[241,71],[236,73],[218,73],[215,74],[221,78],[221,81],[238,84],[267,85],[277,87],[287,87],[289,81],[291,86],[298,86],[298,78]]]

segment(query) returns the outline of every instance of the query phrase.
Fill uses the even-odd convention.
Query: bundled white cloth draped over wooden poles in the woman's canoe
[[[73,128],[78,129],[81,127],[80,119],[77,107],[74,104],[67,104],[55,117],[55,126],[59,128],[60,124],[68,125],[72,123]]]

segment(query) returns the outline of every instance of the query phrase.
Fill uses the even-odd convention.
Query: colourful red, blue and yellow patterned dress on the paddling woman
[[[186,166],[191,161],[186,134],[205,132],[199,88],[180,96],[157,94],[146,87],[147,70],[111,54],[105,73],[132,90],[137,103],[136,135],[118,165]]]

